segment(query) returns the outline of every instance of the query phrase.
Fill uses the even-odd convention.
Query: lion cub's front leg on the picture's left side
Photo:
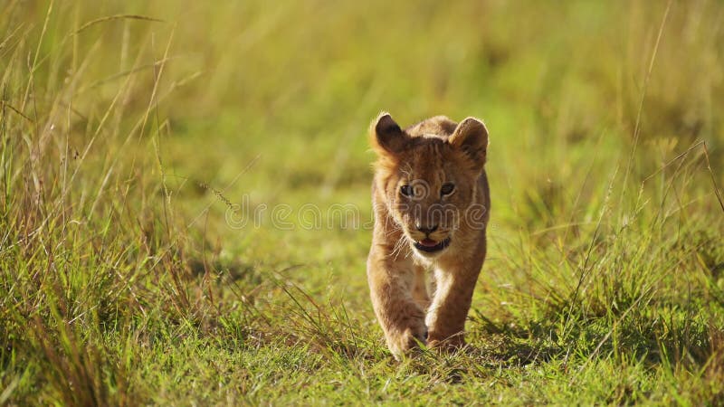
[[[387,346],[399,359],[419,343],[425,343],[424,310],[413,298],[415,270],[412,260],[397,260],[373,251],[367,259],[367,279],[372,306],[385,331]]]

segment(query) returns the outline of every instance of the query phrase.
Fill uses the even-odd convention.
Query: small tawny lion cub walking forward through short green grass
[[[418,342],[460,347],[485,259],[488,130],[444,116],[402,129],[383,112],[369,132],[377,162],[367,279],[387,346],[396,358]]]

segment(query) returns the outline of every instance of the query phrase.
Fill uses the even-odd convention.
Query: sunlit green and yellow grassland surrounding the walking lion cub
[[[724,402],[719,2],[100,3],[0,9],[0,404]],[[381,109],[491,130],[457,355],[368,300]]]

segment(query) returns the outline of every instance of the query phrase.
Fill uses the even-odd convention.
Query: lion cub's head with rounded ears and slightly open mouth
[[[400,128],[382,113],[370,128],[376,150],[376,190],[407,242],[424,257],[465,244],[486,208],[479,178],[488,130],[477,118],[460,124],[443,116]]]

